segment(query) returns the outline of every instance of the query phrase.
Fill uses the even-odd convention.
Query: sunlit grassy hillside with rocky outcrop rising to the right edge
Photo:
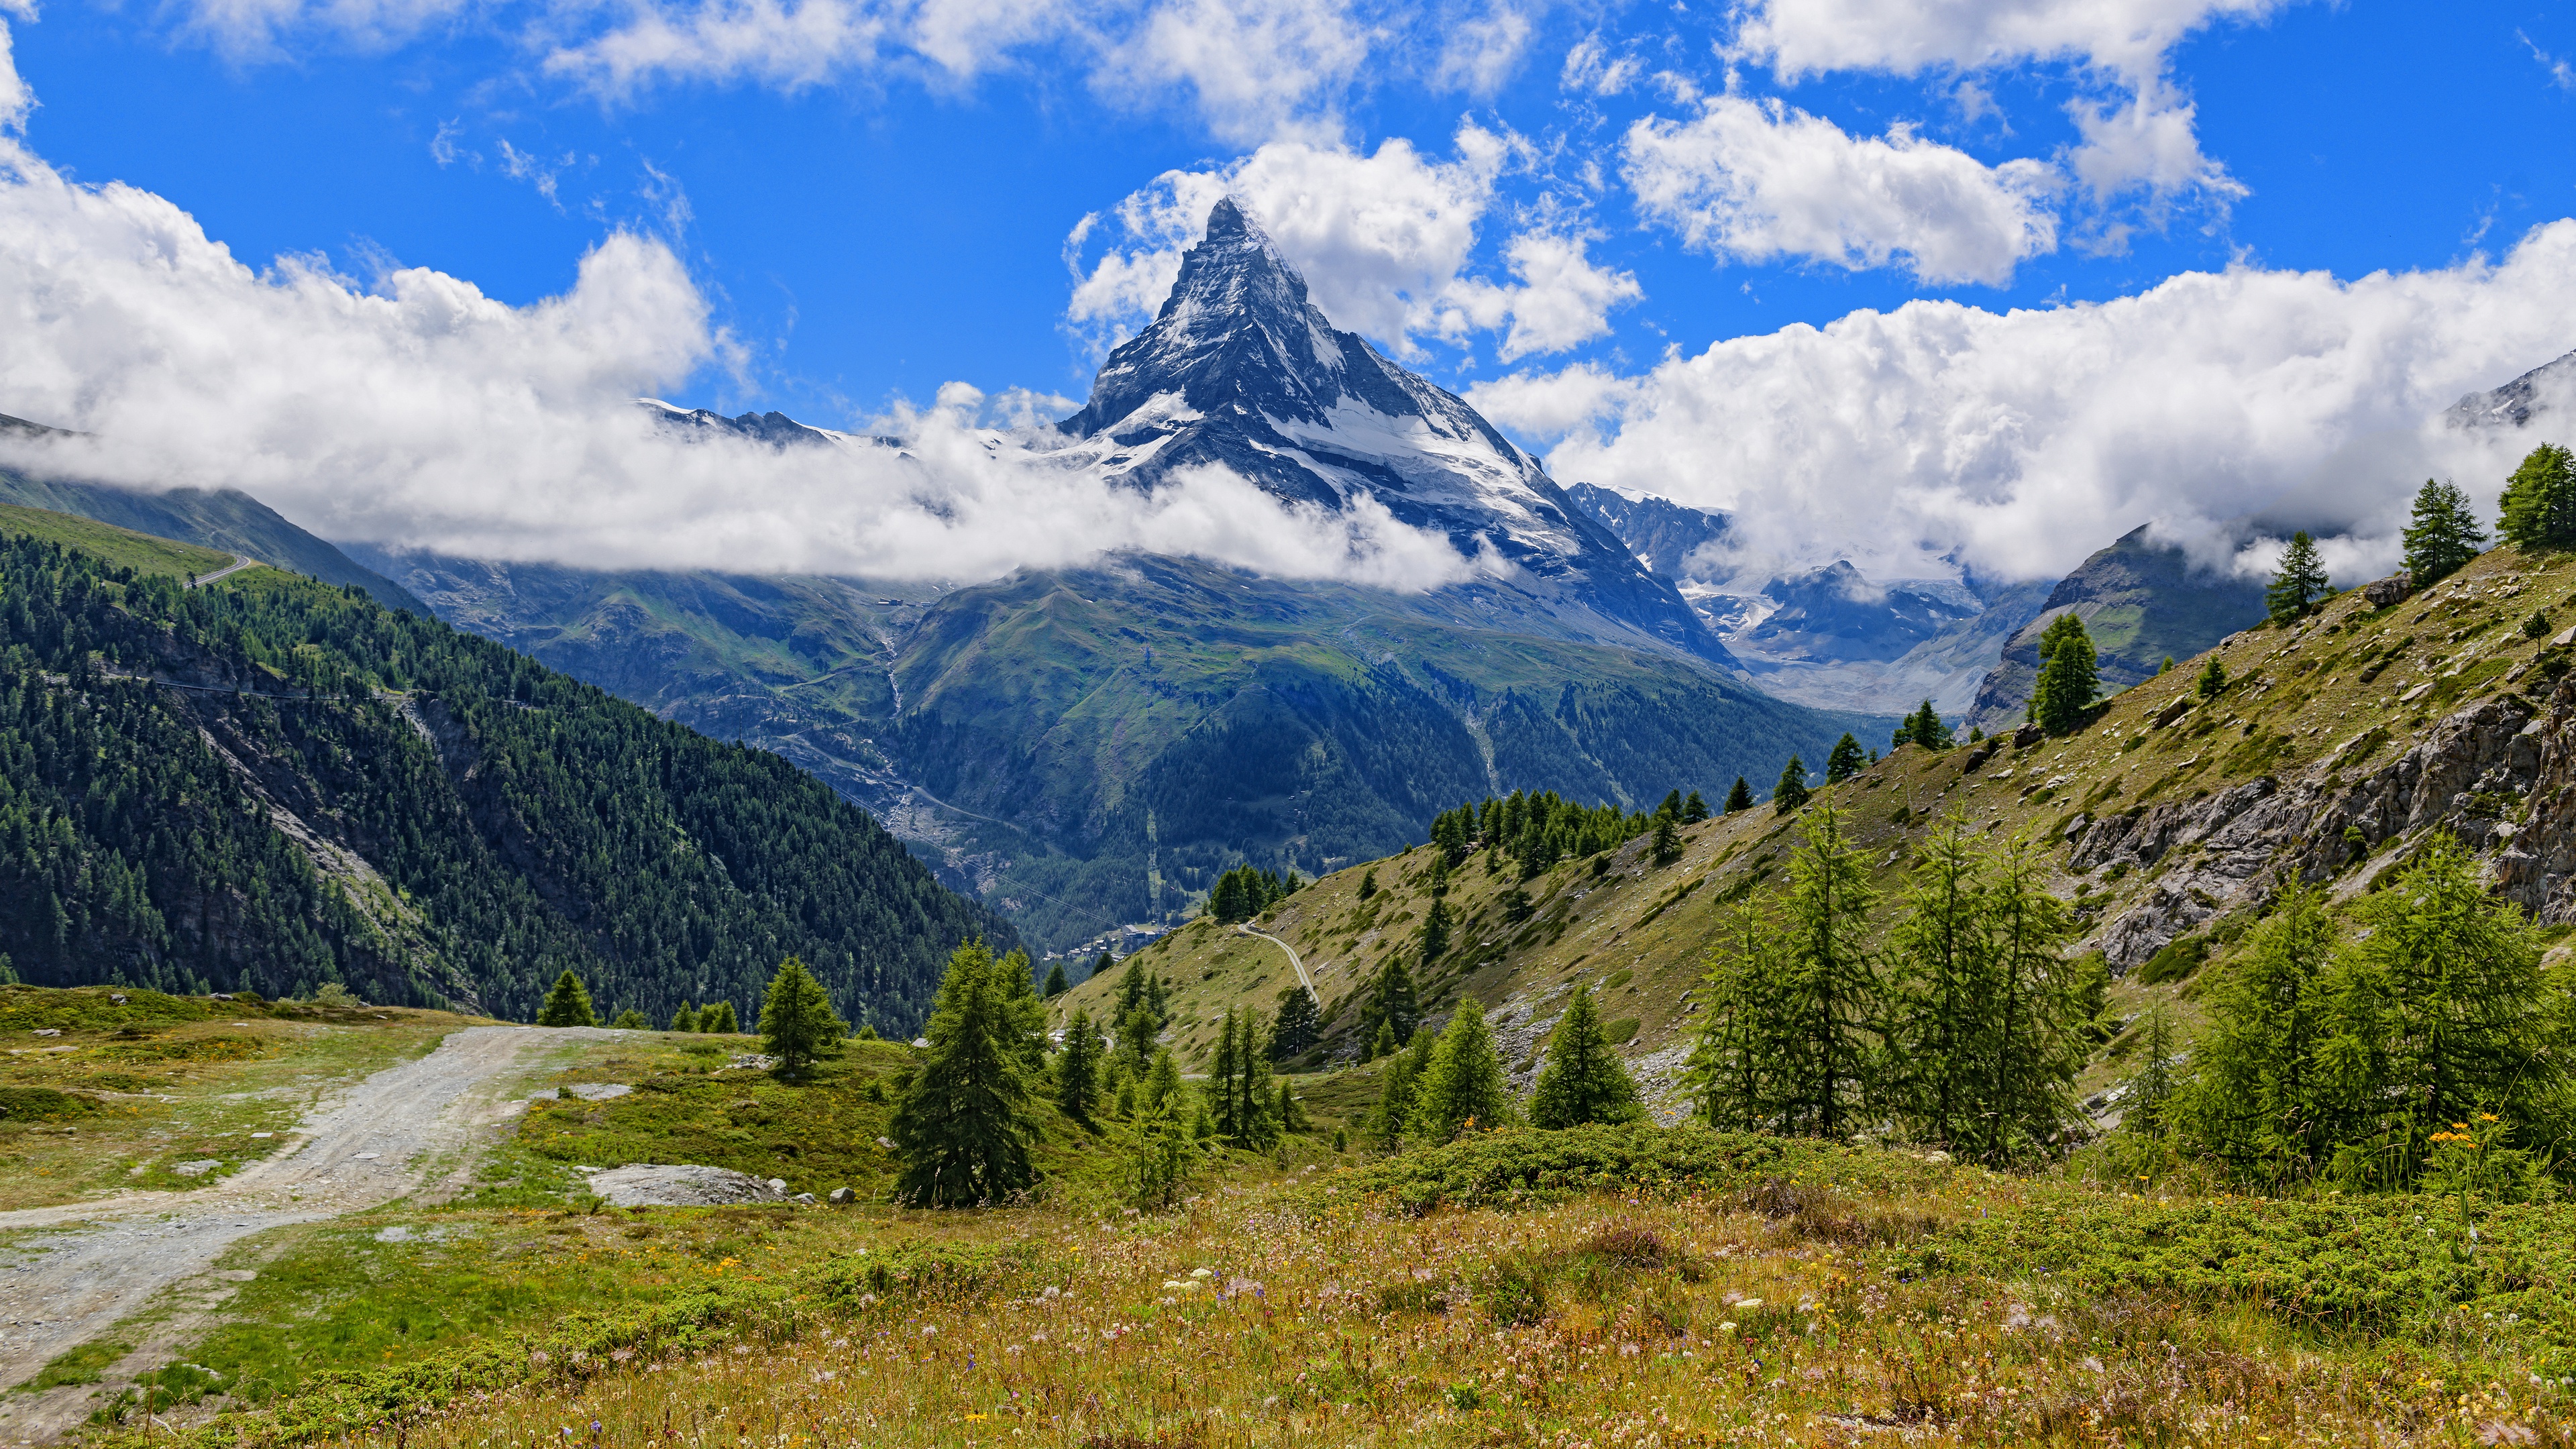
[[[2535,611],[2553,632],[2524,632]],[[2076,735],[1904,748],[1816,799],[1844,812],[1888,918],[1911,846],[1945,812],[1989,835],[2032,830],[2053,843],[2050,890],[2084,928],[2076,951],[2102,951],[2115,977],[2107,1042],[2084,1078],[2092,1093],[2136,1067],[2133,1026],[2148,1006],[2166,1006],[2190,1036],[2200,982],[2239,949],[2280,871],[2331,884],[2342,910],[2427,833],[2450,830],[2481,851],[2499,895],[2543,920],[2576,920],[2576,629],[2558,632],[2566,624],[2576,624],[2576,557],[2494,549],[2391,606],[2352,590],[2300,627],[2218,639],[2208,652],[2231,683],[2215,699],[2192,691],[2205,663],[2195,657],[2120,694]],[[1468,856],[1448,877],[1450,949],[1414,967],[1432,1018],[1481,1000],[1525,1088],[1566,993],[1587,982],[1615,1034],[1633,1024],[1623,1055],[1669,1093],[1723,915],[1785,884],[1795,820],[1762,804],[1685,828],[1667,866],[1646,838],[1535,879],[1492,851]],[[1378,890],[1363,900],[1368,877]],[[1432,848],[1417,846],[1329,874],[1255,923],[1298,951],[1324,1000],[1324,1044],[1301,1065],[1329,1070],[1358,1055],[1360,995],[1394,954],[1419,949],[1430,890]],[[1528,892],[1522,910],[1515,890]],[[1206,918],[1133,962],[1172,982],[1170,1039],[1185,1062],[1213,1044],[1226,1008],[1267,1016],[1296,980],[1278,944]],[[1077,985],[1059,1018],[1074,1008],[1103,1018],[1115,975]]]

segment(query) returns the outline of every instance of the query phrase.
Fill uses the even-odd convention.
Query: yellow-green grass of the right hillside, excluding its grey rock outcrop
[[[1819,789],[1819,797],[1844,810],[1855,843],[1875,869],[1883,910],[1893,915],[1911,843],[1945,812],[1955,810],[1991,835],[2035,830],[2056,841],[2079,815],[2184,802],[2262,776],[2360,779],[2468,701],[2514,688],[2545,696],[2576,657],[2550,647],[2548,637],[2522,634],[2535,611],[2550,614],[2555,627],[2576,624],[2576,557],[2491,549],[2460,575],[2391,608],[2370,608],[2360,593],[2344,593],[2298,629],[2233,634],[2210,652],[2236,686],[2166,727],[2154,727],[2151,717],[2190,694],[2202,660],[2184,660],[2174,673],[2112,699],[2074,737],[2032,748],[2004,743],[1976,773],[1965,768],[1965,748],[1906,748],[1844,784]],[[1726,784],[1705,781],[1703,789],[1718,799]],[[1682,859],[1669,866],[1654,866],[1646,846],[1643,838],[1631,841],[1528,882],[1489,851],[1471,856],[1448,882],[1448,905],[1458,918],[1453,949],[1419,972],[1425,1006],[1437,1018],[1443,1006],[1473,995],[1497,1013],[1507,1065],[1528,1065],[1528,1052],[1538,1047],[1533,1018],[1551,1021],[1556,1008],[1548,1003],[1574,982],[1589,982],[1613,1036],[1631,1034],[1625,1057],[1651,1091],[1687,1047],[1695,1026],[1687,993],[1708,969],[1728,905],[1785,884],[1795,830],[1793,820],[1757,804],[1687,828]],[[2378,859],[2393,853],[2398,848],[2383,846]],[[2071,900],[2092,928],[2143,900],[2179,859],[2143,871],[2061,869],[2050,890]],[[2063,853],[2058,861],[2063,866]],[[1422,846],[1334,871],[1257,920],[1296,946],[1324,995],[1327,1039],[1301,1067],[1329,1067],[1355,1055],[1358,993],[1391,954],[1417,949],[1430,910],[1430,869],[1432,851]],[[1363,900],[1370,877],[1376,895]],[[1522,900],[1515,902],[1515,892]],[[2174,975],[2141,969],[2115,980],[2105,1018],[2136,1024],[2164,1006],[2190,1039],[2200,1021],[2202,962],[2226,962],[2244,926],[2244,913],[2208,923],[2187,946],[2190,962],[2172,962]],[[1211,920],[1195,920],[1131,959],[1172,982],[1170,1042],[1193,1070],[1213,1049],[1226,1008],[1249,1003],[1270,1013],[1293,980],[1275,944]],[[1066,993],[1059,1021],[1074,1008],[1100,1021],[1118,972]],[[2110,1039],[2079,1085],[2092,1093],[2136,1070],[2136,1036]]]

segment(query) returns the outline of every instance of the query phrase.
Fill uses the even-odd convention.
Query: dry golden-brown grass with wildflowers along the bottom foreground
[[[1883,1243],[2009,1194],[1963,1173],[1904,1201],[1589,1196],[1406,1217],[1273,1186],[1170,1220],[961,1214],[1046,1266],[994,1297],[860,1297],[770,1341],[569,1366],[363,1439],[2576,1444],[2568,1390],[2512,1364],[2303,1336],[2246,1307],[1886,1271]]]

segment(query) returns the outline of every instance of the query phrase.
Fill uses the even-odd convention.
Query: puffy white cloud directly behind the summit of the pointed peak
[[[1309,297],[1340,327],[1419,356],[1417,338],[1466,340],[1499,330],[1504,358],[1564,351],[1610,330],[1610,312],[1643,291],[1625,271],[1589,258],[1589,240],[1558,214],[1538,214],[1502,258],[1512,281],[1468,276],[1481,224],[1497,209],[1494,180],[1522,142],[1461,126],[1453,160],[1388,139],[1350,147],[1273,142],[1211,170],[1172,170],[1066,237],[1074,297],[1066,322],[1097,348],[1126,338],[1162,307],[1180,255],[1208,227],[1221,196],[1239,196],[1306,276]],[[1108,237],[1097,260],[1087,248]]]

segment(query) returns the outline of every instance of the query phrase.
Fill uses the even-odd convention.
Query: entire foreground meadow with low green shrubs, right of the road
[[[1497,1168],[1533,1158],[1561,1171],[1533,1173],[1535,1191],[1486,1191]],[[1239,1168],[1208,1173],[1164,1217],[773,1207],[520,1214],[428,1248],[343,1235],[332,1274],[268,1271],[281,1318],[296,1292],[317,1302],[294,1351],[348,1372],[255,1405],[260,1359],[219,1338],[196,1361],[242,1387],[193,1434],[1084,1449],[2576,1441],[2563,1377],[2576,1315],[2563,1287],[2532,1279],[2566,1284],[2568,1209],[2110,1194],[1656,1129],[1494,1134],[1319,1173]],[[2416,1227],[2427,1220],[2432,1238]],[[2496,1261],[2460,1261],[2468,1225]],[[2213,1232],[2239,1245],[2244,1271],[2221,1271],[2231,1253],[2210,1263]],[[569,1294],[577,1312],[567,1281],[590,1284]],[[644,1307],[652,1292],[667,1294],[659,1307]],[[350,1297],[381,1307],[355,1325],[335,1307]]]

